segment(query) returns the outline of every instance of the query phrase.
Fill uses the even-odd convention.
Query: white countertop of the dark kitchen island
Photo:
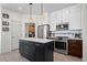
[[[48,40],[48,39],[37,39],[37,37],[21,37],[20,40],[33,41],[33,42],[40,42],[40,43],[47,43],[47,42],[52,42],[52,41],[54,41],[54,40]]]

